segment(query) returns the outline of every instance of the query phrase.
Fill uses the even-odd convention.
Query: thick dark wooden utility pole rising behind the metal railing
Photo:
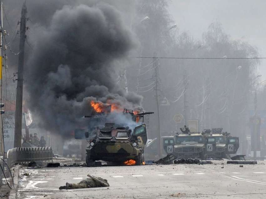
[[[22,129],[22,98],[23,98],[23,68],[24,68],[24,46],[26,39],[26,1],[23,3],[20,19],[20,41],[18,55],[18,84],[15,113],[15,135],[14,147],[21,146],[21,129]]]

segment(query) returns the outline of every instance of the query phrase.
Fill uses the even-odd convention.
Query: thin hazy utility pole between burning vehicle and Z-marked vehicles
[[[158,123],[158,131],[157,131],[157,150],[159,158],[161,158],[161,131],[160,131],[160,112],[159,112],[159,94],[158,91],[160,91],[160,77],[159,77],[159,63],[158,59],[156,58],[156,53],[153,54],[153,79],[155,81],[155,98],[156,98],[156,108],[157,108],[157,123]]]

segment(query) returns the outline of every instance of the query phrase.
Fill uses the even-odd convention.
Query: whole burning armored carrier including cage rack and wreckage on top
[[[108,106],[85,116],[89,118],[87,132],[84,129],[75,130],[75,139],[82,138],[88,142],[87,165],[92,166],[98,160],[141,165],[147,142],[149,114],[152,112],[124,109],[120,113],[111,113],[111,110],[111,106]],[[118,118],[116,122],[110,122],[115,117]]]

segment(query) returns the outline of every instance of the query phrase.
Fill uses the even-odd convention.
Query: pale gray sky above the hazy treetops
[[[210,23],[218,20],[232,39],[242,39],[257,46],[260,56],[266,57],[265,0],[172,0],[169,12],[180,32],[189,31],[201,39]],[[266,79],[266,60],[258,67]]]

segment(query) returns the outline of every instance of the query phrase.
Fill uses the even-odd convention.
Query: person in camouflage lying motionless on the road
[[[102,179],[101,177],[94,177],[95,179],[92,178],[86,178],[79,183],[71,184],[71,183],[66,183],[66,186],[60,186],[59,189],[83,189],[83,188],[91,188],[91,187],[102,187],[102,186],[109,186],[107,180]],[[97,180],[98,181],[97,181]],[[101,182],[102,181],[102,182]],[[105,183],[105,184],[104,184]]]

